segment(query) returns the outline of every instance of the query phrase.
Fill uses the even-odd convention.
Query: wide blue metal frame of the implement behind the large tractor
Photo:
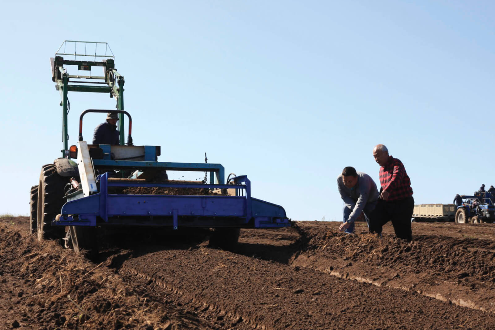
[[[97,165],[102,161],[94,160],[94,162]],[[122,163],[127,163],[129,166],[130,163],[147,162],[122,161]],[[149,165],[146,167],[149,168]],[[221,170],[223,176],[223,166]],[[173,229],[179,226],[250,228],[290,226],[283,207],[251,197],[251,184],[246,175],[233,178],[234,184],[133,183],[113,182],[108,179],[108,172],[99,175],[97,178],[99,192],[91,196],[83,197],[81,191],[67,196],[67,203],[63,205],[60,217],[51,224],[149,225],[170,226]],[[108,193],[108,187],[236,189],[236,196],[111,194]],[[244,196],[241,194],[243,190]]]

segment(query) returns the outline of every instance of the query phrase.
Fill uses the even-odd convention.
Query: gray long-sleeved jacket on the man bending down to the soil
[[[351,189],[344,185],[342,174],[340,174],[337,177],[337,186],[339,187],[339,192],[346,207],[352,210],[349,219],[347,220],[349,222],[354,222],[361,212],[363,212],[367,204],[375,204],[378,200],[376,183],[371,176],[366,173],[357,172],[357,184]]]

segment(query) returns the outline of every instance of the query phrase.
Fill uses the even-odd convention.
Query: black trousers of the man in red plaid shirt
[[[382,233],[383,225],[392,221],[398,238],[412,240],[411,218],[414,210],[414,198],[412,196],[399,201],[386,202],[378,200],[375,211],[370,216],[370,232]]]

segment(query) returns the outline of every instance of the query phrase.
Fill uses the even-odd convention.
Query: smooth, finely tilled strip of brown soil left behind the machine
[[[120,270],[203,304],[233,328],[490,328],[495,316],[416,292],[342,280],[310,269],[204,246],[134,250]],[[241,328],[239,328],[241,329]]]

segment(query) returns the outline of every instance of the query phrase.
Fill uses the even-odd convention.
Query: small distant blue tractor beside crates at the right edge
[[[461,195],[462,204],[457,206],[455,222],[485,223],[495,221],[495,193],[476,191],[474,195]]]

